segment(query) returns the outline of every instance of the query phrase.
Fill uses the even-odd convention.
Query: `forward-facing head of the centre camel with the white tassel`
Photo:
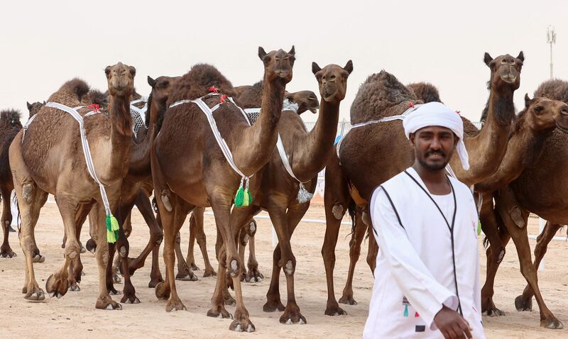
[[[324,68],[312,62],[312,72],[320,86],[322,100],[337,104],[345,98],[347,78],[353,72],[353,62],[349,60],[345,67],[331,64]]]

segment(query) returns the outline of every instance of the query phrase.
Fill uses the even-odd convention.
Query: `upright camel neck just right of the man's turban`
[[[513,89],[492,88],[484,127],[474,137],[464,138],[469,152],[469,170],[463,170],[459,158],[452,157],[452,168],[461,182],[476,184],[498,169],[507,149],[510,124],[514,117]]]

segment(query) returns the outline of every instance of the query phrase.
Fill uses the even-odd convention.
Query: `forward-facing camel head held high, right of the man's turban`
[[[520,51],[517,57],[508,54],[500,55],[493,59],[488,52],[484,55],[484,62],[491,69],[491,79],[489,86],[499,89],[508,87],[513,91],[520,85],[520,69],[523,68],[525,55]]]

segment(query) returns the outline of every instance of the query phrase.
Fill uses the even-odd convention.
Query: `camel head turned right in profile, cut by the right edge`
[[[532,130],[547,130],[555,126],[568,133],[568,104],[542,96],[530,99],[525,94],[525,116]]]

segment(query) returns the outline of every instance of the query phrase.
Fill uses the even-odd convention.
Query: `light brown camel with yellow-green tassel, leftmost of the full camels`
[[[109,109],[84,118],[92,151],[94,172],[106,185],[109,207],[116,209],[121,181],[128,172],[131,148],[131,117],[129,104],[133,93],[134,67],[121,62],[105,69],[109,87]],[[80,106],[87,101],[89,87],[79,79],[65,83],[48,101],[70,107]],[[82,109],[87,113],[96,106]],[[111,299],[107,291],[106,274],[109,249],[105,239],[112,240],[113,232],[107,230],[107,214],[99,185],[89,176],[81,148],[80,128],[69,113],[44,106],[40,109],[26,131],[25,138],[20,132],[9,148],[10,167],[18,197],[22,226],[20,244],[26,256],[26,286],[24,296],[28,300],[43,300],[45,293],[35,280],[32,251],[35,247],[34,228],[39,211],[48,193],[53,194],[60,210],[65,235],[65,259],[62,267],[52,274],[45,283],[50,296],[58,298],[67,293],[70,262],[79,255],[80,245],[75,233],[75,214],[80,204],[97,202],[97,218],[94,218],[92,235],[97,243],[95,255],[99,267],[99,296],[97,309],[122,309],[121,304]],[[108,232],[108,233],[107,233]],[[119,235],[124,237],[123,234]]]

